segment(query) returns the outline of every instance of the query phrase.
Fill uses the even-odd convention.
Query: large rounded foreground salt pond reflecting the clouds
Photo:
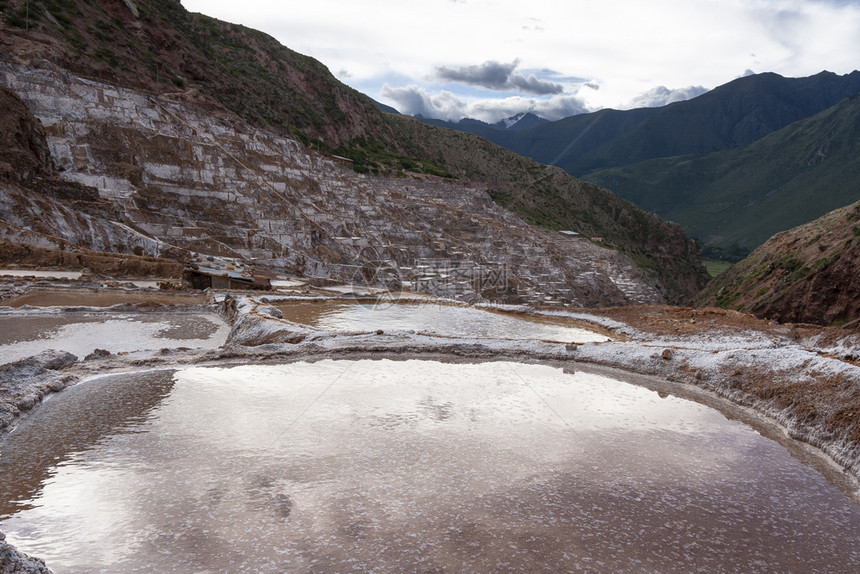
[[[860,506],[784,446],[549,366],[111,376],[0,453],[0,530],[58,574],[860,568]]]

